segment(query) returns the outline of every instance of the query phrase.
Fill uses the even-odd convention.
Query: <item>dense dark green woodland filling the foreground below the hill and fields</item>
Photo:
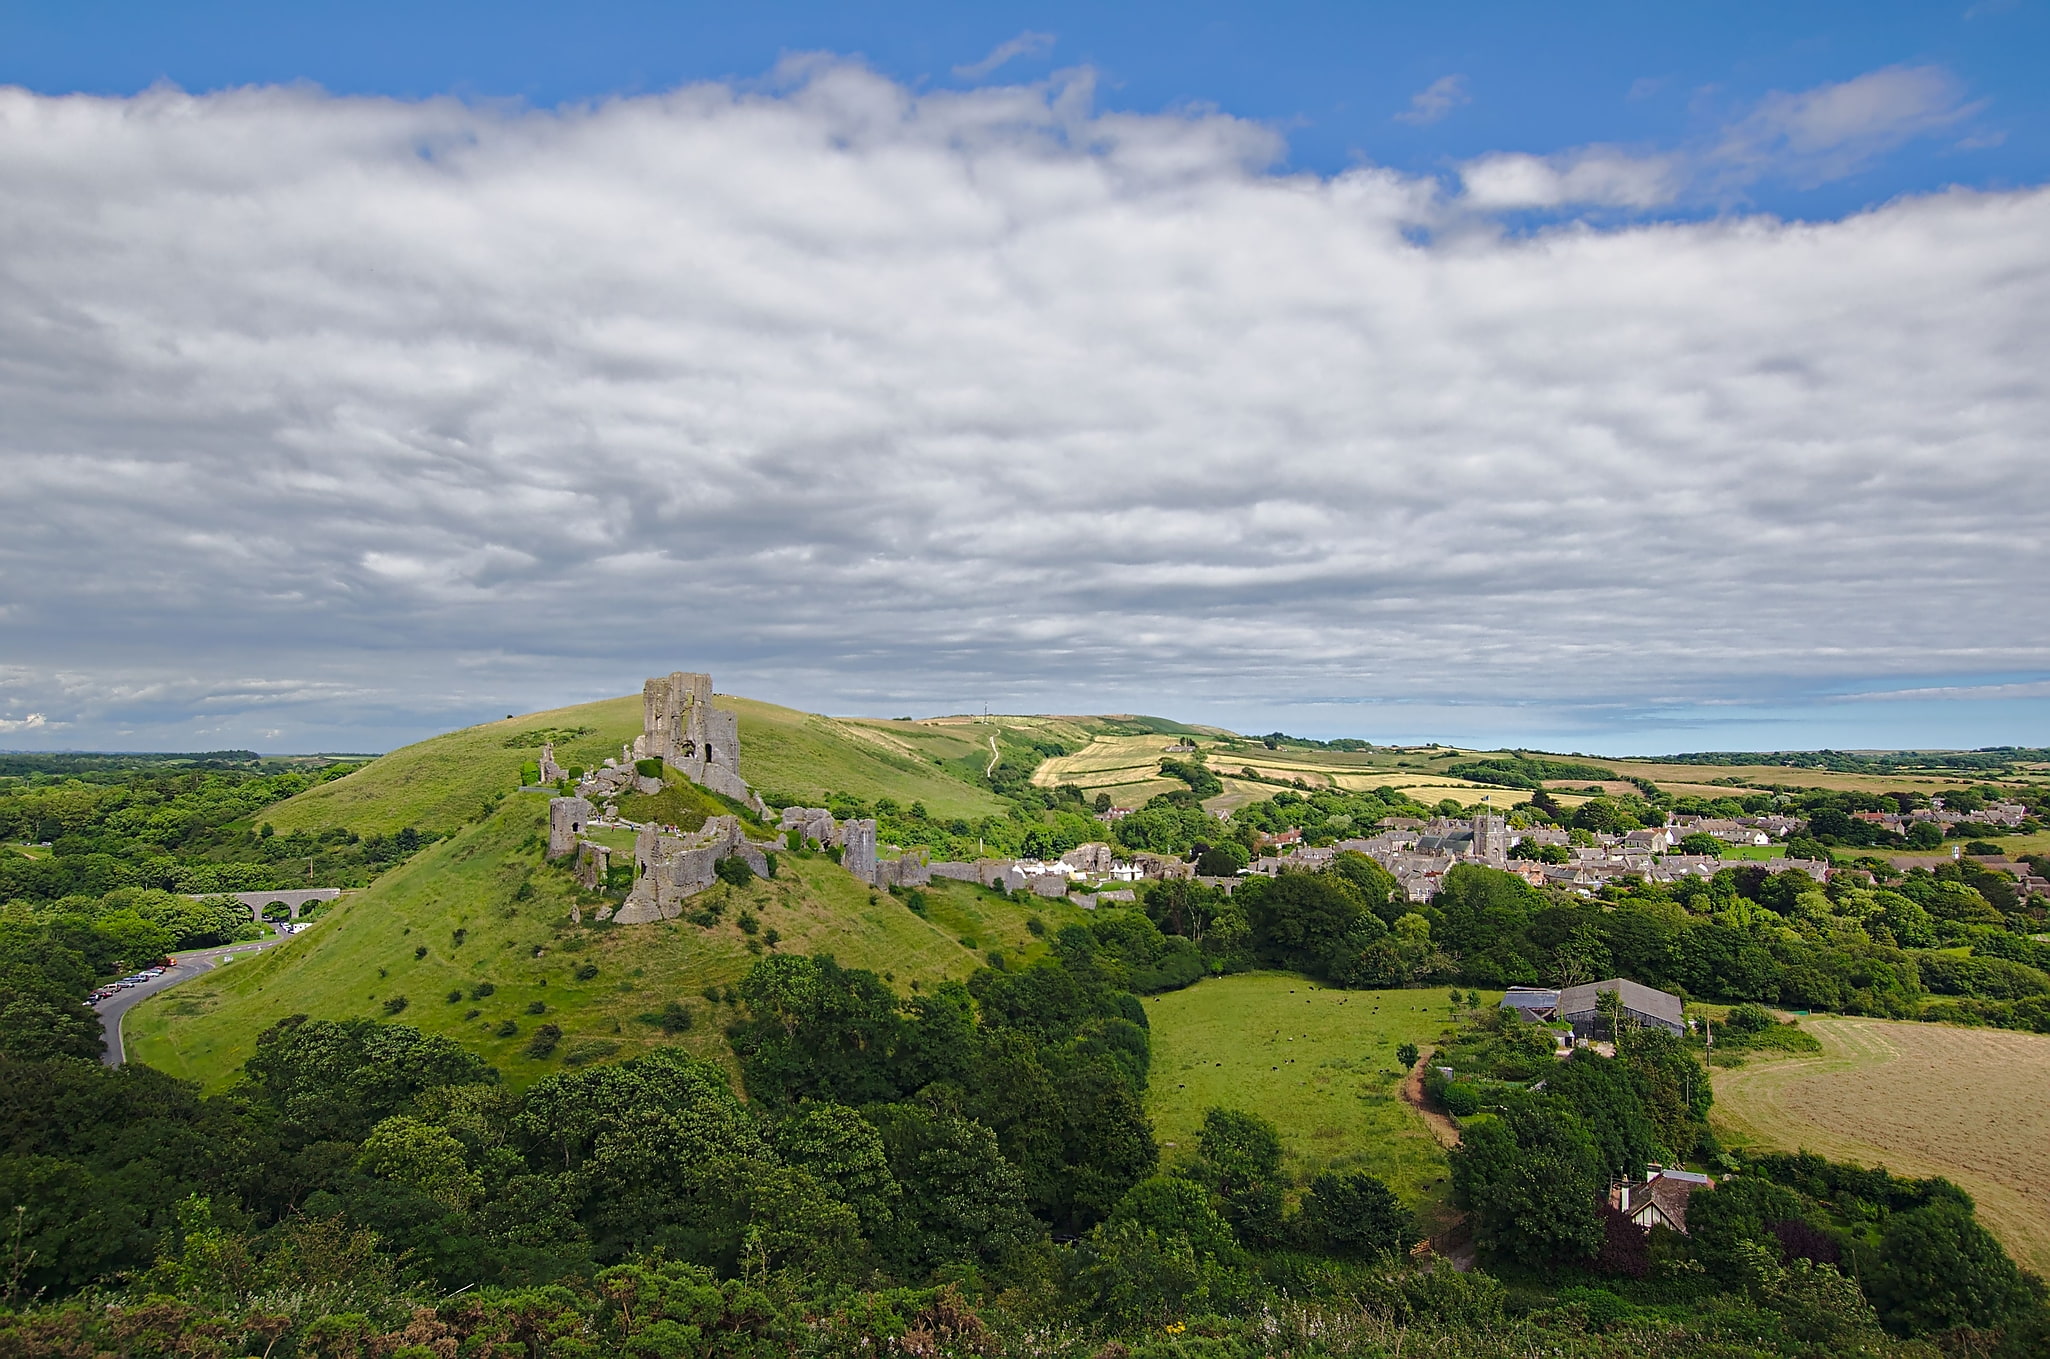
[[[767,957],[728,1031],[740,1090],[662,1049],[521,1093],[361,1019],[277,1025],[219,1097],[0,1056],[0,1355],[2032,1355],[2050,1334],[2040,1283],[1941,1181],[1720,1158],[1691,1238],[1617,1224],[1609,1179],[1712,1142],[1708,1080],[1663,1033],[1542,1088],[1496,1017],[1453,1041],[1478,1095],[1451,1177],[1484,1269],[1419,1244],[1371,1175],[1294,1183],[1255,1111],[1214,1109],[1164,1166],[1130,965],[1080,926],[1054,945],[908,1000]]]

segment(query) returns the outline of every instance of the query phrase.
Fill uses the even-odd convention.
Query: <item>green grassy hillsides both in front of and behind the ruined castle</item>
[[[982,783],[992,738],[1007,754],[1035,760],[1037,746],[1084,744],[1103,722],[834,719],[726,695],[715,703],[740,715],[742,775],[777,801],[849,793],[970,818],[1007,806]],[[746,976],[756,959],[750,943],[828,951],[910,990],[963,978],[992,949],[1031,957],[1043,943],[1027,922],[1039,916],[1054,926],[1078,910],[935,883],[920,916],[824,857],[779,855],[775,881],[717,886],[697,898],[717,904],[713,924],[572,926],[576,883],[543,861],[547,797],[512,791],[521,765],[543,740],[556,742],[564,765],[597,765],[617,756],[640,726],[638,695],[486,722],[266,808],[258,820],[277,832],[414,826],[447,838],[348,894],[291,943],[135,1008],[125,1025],[129,1054],[217,1086],[264,1027],[305,1013],[404,1019],[476,1047],[515,1084],[566,1060],[631,1056],[654,1043],[726,1060],[720,1027],[730,1015],[707,1000],[707,988],[724,996]],[[742,916],[754,935],[742,931]],[[670,1002],[691,1015],[689,1029],[668,1033],[642,1019]],[[562,1039],[547,1056],[527,1056],[541,1025],[560,1027]]]

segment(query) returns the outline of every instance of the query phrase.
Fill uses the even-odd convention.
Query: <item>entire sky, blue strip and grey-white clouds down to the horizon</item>
[[[0,8],[0,746],[2050,744],[2050,2]]]

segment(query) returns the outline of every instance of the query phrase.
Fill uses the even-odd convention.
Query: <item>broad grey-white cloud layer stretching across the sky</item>
[[[0,730],[383,744],[687,666],[1537,738],[2050,668],[2050,193],[1505,236],[1281,150],[826,59],[4,90]]]

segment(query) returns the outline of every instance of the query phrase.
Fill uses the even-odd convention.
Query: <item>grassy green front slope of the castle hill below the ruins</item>
[[[484,822],[342,898],[312,931],[139,1004],[125,1023],[129,1054],[221,1088],[271,1023],[301,1013],[387,1019],[385,1002],[406,996],[400,1023],[461,1041],[515,1086],[560,1070],[562,1054],[580,1039],[617,1041],[621,1060],[679,1043],[726,1062],[720,1029],[732,1013],[703,992],[740,982],[756,961],[736,926],[740,910],[781,935],[779,951],[832,953],[890,976],[900,992],[966,978],[990,949],[1035,957],[1043,943],[1027,929],[1033,914],[1054,929],[1080,918],[1068,902],[1011,902],[951,881],[927,894],[920,918],[824,857],[779,855],[775,881],[715,886],[693,900],[722,904],[709,929],[687,920],[572,926],[576,886],[564,869],[541,863],[543,828],[543,797],[508,797]],[[459,943],[455,931],[463,931]],[[420,947],[426,955],[414,957]],[[586,965],[597,974],[578,980]],[[492,994],[471,998],[480,984]],[[445,1000],[451,990],[463,1000]],[[535,1000],[547,1006],[543,1015],[527,1013]],[[668,1000],[695,1019],[674,1037],[638,1019]],[[519,1033],[500,1037],[504,1021]],[[556,1056],[533,1060],[525,1043],[541,1023],[560,1025],[564,1039]]]

